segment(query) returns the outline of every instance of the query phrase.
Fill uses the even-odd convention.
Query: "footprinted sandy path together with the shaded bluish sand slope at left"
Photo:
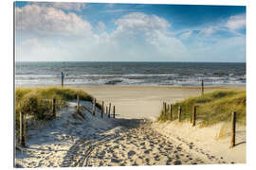
[[[91,108],[91,103],[82,102]],[[127,166],[220,163],[204,159],[161,135],[144,119],[100,118],[87,111],[85,120],[75,102],[45,126],[27,129],[27,148],[16,152],[16,167]],[[202,159],[203,158],[203,159]]]

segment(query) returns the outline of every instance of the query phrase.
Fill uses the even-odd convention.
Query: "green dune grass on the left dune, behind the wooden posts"
[[[56,110],[66,105],[66,101],[74,100],[92,101],[93,97],[82,90],[74,88],[16,88],[15,89],[15,125],[16,134],[19,133],[20,111],[30,115],[35,120],[48,121],[52,119],[52,100],[56,99]],[[96,107],[101,109],[101,104]]]

